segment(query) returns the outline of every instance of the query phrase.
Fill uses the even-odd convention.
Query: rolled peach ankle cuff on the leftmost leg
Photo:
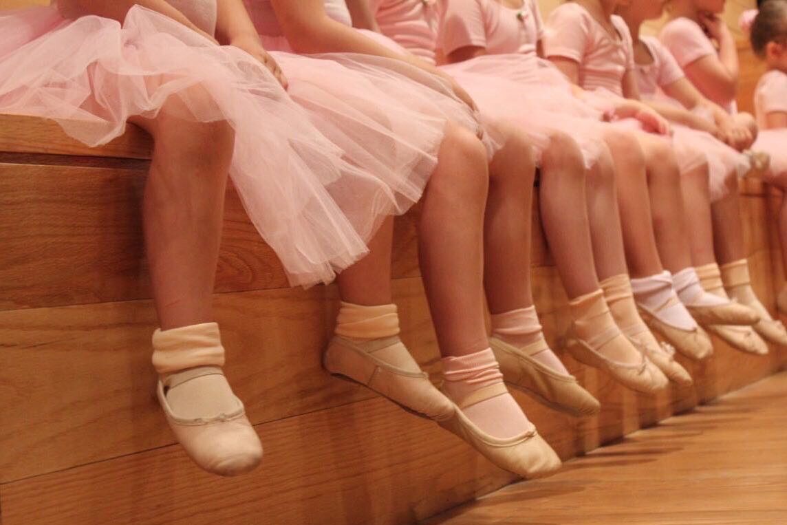
[[[224,366],[218,324],[194,324],[153,332],[153,367],[160,375],[200,366]]]

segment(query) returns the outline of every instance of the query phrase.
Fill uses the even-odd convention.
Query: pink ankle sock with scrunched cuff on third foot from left
[[[442,367],[445,379],[442,390],[452,400],[503,383],[503,374],[490,348],[462,357],[443,357]],[[508,393],[478,401],[463,412],[478,428],[499,439],[513,438],[533,427]]]

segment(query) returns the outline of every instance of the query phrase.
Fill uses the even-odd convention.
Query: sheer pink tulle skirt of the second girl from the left
[[[283,68],[290,96],[309,112],[313,124],[349,161],[375,176],[419,181],[420,194],[448,123],[482,139],[490,157],[499,148],[478,113],[456,98],[440,76],[375,55],[293,54],[282,36],[260,38]]]

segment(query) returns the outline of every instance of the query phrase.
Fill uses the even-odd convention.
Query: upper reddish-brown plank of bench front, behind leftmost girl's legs
[[[0,163],[0,310],[150,298],[139,168]],[[393,275],[419,275],[417,213],[397,218]],[[288,287],[227,190],[216,291]]]

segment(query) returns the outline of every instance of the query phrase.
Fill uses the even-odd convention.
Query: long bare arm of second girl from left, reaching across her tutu
[[[473,99],[453,78],[415,55],[397,53],[332,20],[325,13],[323,0],[271,0],[271,5],[287,41],[297,53],[358,53],[403,61],[445,79],[456,97],[475,109]]]

